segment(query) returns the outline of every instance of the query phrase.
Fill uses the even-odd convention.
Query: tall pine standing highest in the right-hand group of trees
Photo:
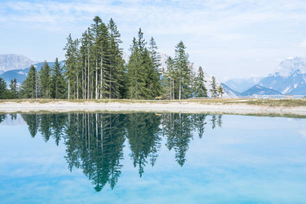
[[[188,54],[185,52],[185,45],[182,41],[179,41],[175,46],[175,72],[177,77],[178,86],[178,99],[188,97],[188,86],[189,86],[189,61]]]

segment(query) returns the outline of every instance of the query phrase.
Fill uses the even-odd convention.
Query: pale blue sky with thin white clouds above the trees
[[[96,15],[113,18],[125,52],[141,27],[171,56],[182,40],[190,62],[221,81],[306,57],[304,0],[0,0],[0,54],[63,60],[68,34],[80,37]]]

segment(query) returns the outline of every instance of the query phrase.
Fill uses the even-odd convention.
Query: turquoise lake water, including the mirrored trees
[[[306,203],[306,119],[0,115],[0,203]]]

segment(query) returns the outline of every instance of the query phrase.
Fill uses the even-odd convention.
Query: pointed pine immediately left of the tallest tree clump
[[[51,90],[52,98],[65,98],[66,82],[63,76],[62,67],[59,64],[57,57],[55,58],[54,66],[52,67]]]

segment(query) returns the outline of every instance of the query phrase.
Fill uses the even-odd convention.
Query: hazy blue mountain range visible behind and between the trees
[[[166,67],[165,61],[168,54],[161,53],[161,66]],[[128,54],[123,52],[123,58],[127,62]],[[50,66],[54,62],[48,62]],[[60,61],[63,65],[64,61]],[[31,64],[37,70],[43,62],[32,61],[23,55],[1,54],[0,55],[0,77],[7,83],[10,79],[16,78],[19,84],[26,78]],[[197,67],[194,67],[197,70]],[[205,73],[205,85],[210,96],[210,83],[212,75]],[[263,95],[263,94],[295,94],[306,95],[306,58],[294,57],[281,61],[273,73],[267,77],[250,77],[247,79],[235,78],[221,83],[216,80],[217,85],[221,84],[225,92],[224,96],[239,95]]]

